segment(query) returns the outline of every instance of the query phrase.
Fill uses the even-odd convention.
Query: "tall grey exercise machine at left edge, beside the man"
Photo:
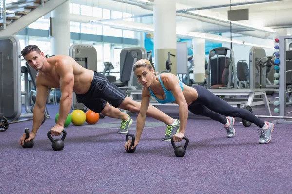
[[[0,45],[0,128],[3,128],[3,125],[32,120],[33,115],[28,107],[25,107],[27,113],[22,113],[21,96],[28,95],[28,91],[21,91],[19,39],[15,35],[0,37]],[[24,70],[27,79],[29,70]],[[28,101],[25,103],[27,105]],[[43,122],[49,117],[45,114]]]

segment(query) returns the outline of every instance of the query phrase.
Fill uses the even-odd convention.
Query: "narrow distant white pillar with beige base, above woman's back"
[[[204,82],[205,79],[205,39],[193,38],[193,62],[195,83]]]

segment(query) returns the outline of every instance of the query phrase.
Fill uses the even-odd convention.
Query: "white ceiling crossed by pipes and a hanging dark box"
[[[128,3],[139,0],[124,0]],[[245,2],[260,2],[263,0],[231,0],[231,4],[245,3]],[[145,15],[153,14],[153,11],[143,9],[140,6],[116,2],[115,0],[70,0],[71,3],[84,4],[88,6],[95,6],[110,10],[128,12],[134,15]],[[218,5],[229,5],[230,0],[176,0],[177,10],[189,9],[189,8],[205,8]],[[154,1],[155,4],[155,1]],[[146,6],[147,8],[153,8],[153,6]],[[232,9],[249,9],[249,20],[239,21],[241,23],[258,26],[258,27],[292,27],[292,0],[284,1],[274,1],[268,3],[256,3],[249,5],[233,6]],[[227,11],[230,10],[230,7],[223,8],[212,8],[195,11],[195,13],[202,13],[208,16],[216,16],[219,18],[227,19]],[[151,21],[151,20],[150,20]],[[139,25],[139,24],[136,24]],[[196,19],[189,19],[186,17],[177,16],[177,26],[181,29],[185,29],[186,32],[228,32],[230,28],[228,26],[220,23],[208,23],[204,21],[199,21]],[[247,32],[238,32],[241,34],[250,34],[251,36],[256,37],[272,37],[271,34],[259,31],[250,31],[248,29],[236,28],[233,30],[246,30]]]

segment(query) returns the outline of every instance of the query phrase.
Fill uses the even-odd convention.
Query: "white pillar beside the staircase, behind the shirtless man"
[[[51,54],[69,55],[70,13],[69,0],[51,12],[52,37]]]

